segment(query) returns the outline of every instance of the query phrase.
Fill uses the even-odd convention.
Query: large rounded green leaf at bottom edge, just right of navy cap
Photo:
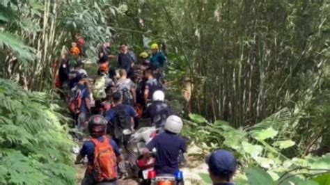
[[[262,168],[252,167],[246,170],[246,177],[251,185],[271,185],[274,184],[272,177]]]

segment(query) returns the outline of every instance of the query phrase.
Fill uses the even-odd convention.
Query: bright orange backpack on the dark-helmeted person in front
[[[92,138],[94,143],[93,165],[88,166],[89,173],[93,176],[96,183],[104,182],[117,178],[116,155],[109,143],[109,138],[104,137],[101,143],[96,138]]]

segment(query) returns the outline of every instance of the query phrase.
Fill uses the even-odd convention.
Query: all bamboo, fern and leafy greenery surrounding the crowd
[[[242,183],[313,184],[329,176],[317,177],[329,170],[329,17],[329,1],[4,0],[0,77],[50,92],[76,33],[91,61],[110,38],[115,54],[158,42],[175,112],[204,117],[184,129],[203,154],[234,151]],[[72,143],[48,95],[3,80],[0,90],[0,182],[72,184]]]

